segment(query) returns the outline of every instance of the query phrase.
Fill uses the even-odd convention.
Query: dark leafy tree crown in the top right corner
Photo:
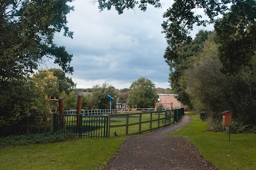
[[[237,74],[249,66],[256,51],[256,1],[236,1],[214,28],[222,71]]]

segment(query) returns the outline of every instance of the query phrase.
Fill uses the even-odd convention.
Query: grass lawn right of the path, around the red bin
[[[203,132],[206,125],[198,115],[191,115],[191,123],[170,134],[186,136],[201,155],[221,170],[256,169],[256,134]]]

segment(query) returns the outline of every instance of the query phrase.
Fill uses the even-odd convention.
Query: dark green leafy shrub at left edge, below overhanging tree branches
[[[19,133],[20,127],[16,132],[10,125],[18,124],[24,117],[46,111],[44,96],[33,82],[26,79],[10,82],[9,86],[1,88],[0,94],[0,127],[8,127],[6,129],[13,133]],[[5,132],[3,135],[6,135]]]

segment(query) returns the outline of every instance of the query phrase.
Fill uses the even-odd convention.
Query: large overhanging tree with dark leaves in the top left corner
[[[73,7],[63,1],[42,0],[2,0],[0,4],[0,75],[2,81],[34,72],[43,57],[54,58],[66,72],[72,55],[65,47],[53,42],[54,34],[64,30],[64,35],[72,37],[66,15]]]

